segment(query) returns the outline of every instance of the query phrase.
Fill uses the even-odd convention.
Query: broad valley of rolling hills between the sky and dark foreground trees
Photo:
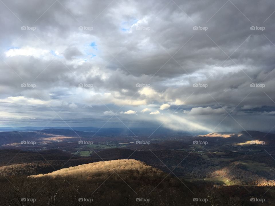
[[[130,187],[135,187],[136,190],[139,187],[149,190],[153,187],[159,188],[158,190],[168,187],[173,193],[180,194],[184,191],[185,195],[194,198],[196,193],[201,193],[203,198],[209,195],[208,191],[214,192],[215,197],[218,193],[221,195],[225,192],[227,201],[233,201],[230,198],[241,198],[239,194],[245,194],[247,199],[239,200],[243,203],[255,195],[266,197],[275,192],[274,134],[244,131],[197,136],[177,134],[174,138],[160,134],[150,138],[142,135],[116,135],[93,136],[89,132],[62,129],[17,134],[0,132],[0,176],[6,177],[2,178],[2,183],[8,185],[12,180],[12,184],[7,186],[9,188],[16,184],[17,177],[22,177],[25,181],[35,178],[37,184],[40,181],[39,184],[42,184],[48,177],[57,182],[62,182],[62,177],[66,177],[65,179],[73,182],[77,180],[83,184],[92,182],[109,191],[111,188],[107,185],[118,181],[121,185],[126,183],[126,187],[127,184],[133,184]],[[8,136],[13,136],[9,140],[13,142],[8,142]],[[36,143],[21,144],[23,140]],[[127,173],[139,177],[129,177]],[[139,178],[144,178],[144,183],[137,183]],[[162,179],[169,181],[162,182]],[[69,180],[68,184],[73,184]],[[198,188],[205,190],[204,195]],[[149,190],[145,195],[147,198],[164,192],[158,191],[151,195]],[[239,191],[239,194],[235,194],[235,191]],[[110,193],[113,192],[115,193]],[[135,192],[130,196],[135,196]],[[99,204],[102,199],[97,198]],[[182,197],[176,202],[179,203],[181,199]],[[192,205],[190,199],[185,201]],[[155,203],[150,202],[157,205]],[[96,205],[95,202],[93,204]],[[269,205],[267,202],[263,204]]]

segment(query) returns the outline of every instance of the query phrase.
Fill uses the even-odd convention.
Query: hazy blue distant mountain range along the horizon
[[[33,129],[33,127],[32,127]],[[83,128],[82,128],[83,129]],[[104,130],[104,131],[101,131]],[[22,145],[22,141],[35,141],[36,146],[42,144],[50,144],[50,143],[77,143],[80,139],[86,138],[94,142],[106,142],[106,141],[115,141],[115,142],[129,142],[129,137],[131,137],[132,141],[148,139],[151,140],[151,144],[148,145],[136,145],[135,142],[133,144],[126,145],[129,149],[140,149],[147,148],[151,150],[158,149],[178,149],[178,148],[186,148],[188,144],[192,144],[193,140],[207,140],[211,144],[221,144],[230,143],[230,144],[275,144],[275,134],[259,132],[259,131],[242,131],[237,133],[230,132],[214,132],[203,135],[192,136],[190,134],[168,134],[161,132],[155,133],[154,136],[150,135],[150,132],[144,131],[139,135],[134,135],[133,133],[120,133],[121,129],[118,128],[109,128],[109,129],[101,129],[97,131],[78,131],[71,129],[61,129],[61,128],[48,128],[43,130],[30,130],[30,128],[25,128],[22,131],[8,131],[8,132],[0,132],[0,146],[26,146]],[[119,132],[120,131],[120,132]],[[105,134],[106,133],[106,134]],[[145,134],[143,134],[145,133]],[[138,134],[138,133],[136,133]],[[157,141],[159,138],[162,140],[169,140],[170,137],[173,137],[172,140],[177,140],[176,144],[173,142],[164,142]],[[180,138],[175,139],[175,137],[180,136]],[[183,138],[186,137],[186,138]]]

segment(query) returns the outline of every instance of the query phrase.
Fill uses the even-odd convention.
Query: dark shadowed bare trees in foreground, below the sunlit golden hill
[[[133,175],[133,174],[132,174]],[[149,179],[148,179],[149,178]],[[5,177],[0,178],[1,206],[182,206],[182,205],[222,205],[222,206],[270,206],[272,197],[265,194],[264,203],[250,201],[251,196],[243,187],[216,188],[208,183],[195,184],[181,182],[176,178],[162,175],[152,177],[131,176],[120,179],[112,174],[107,180],[68,176],[57,177]],[[163,180],[164,179],[164,180]],[[160,184],[159,184],[160,183]],[[188,189],[188,188],[190,189]],[[262,188],[248,188],[253,195],[261,197]],[[211,190],[211,191],[210,191]],[[272,189],[271,189],[272,190]],[[209,193],[207,193],[210,191]],[[144,201],[136,201],[140,198]],[[194,198],[207,199],[195,202]],[[81,201],[82,199],[87,200]],[[147,199],[147,201],[145,201]],[[148,201],[150,199],[150,201]],[[29,201],[25,201],[29,200]],[[33,200],[33,202],[31,201]],[[35,200],[35,201],[34,201]],[[80,201],[79,201],[80,200]],[[90,201],[89,201],[90,200]],[[92,200],[92,201],[91,201]],[[273,201],[273,200],[272,200]]]

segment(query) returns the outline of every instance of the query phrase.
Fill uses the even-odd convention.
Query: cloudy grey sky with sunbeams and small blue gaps
[[[275,2],[1,0],[0,127],[275,132]]]

